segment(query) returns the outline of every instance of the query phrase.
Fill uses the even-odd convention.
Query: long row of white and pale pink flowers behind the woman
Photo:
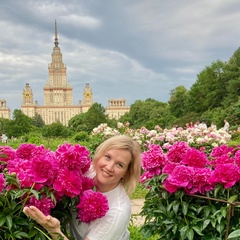
[[[231,134],[223,129],[213,129],[212,127],[192,127],[162,129],[158,126],[153,130],[145,127],[141,129],[129,128],[129,123],[118,123],[117,129],[110,128],[107,124],[100,124],[94,128],[90,137],[97,135],[99,138],[106,139],[114,135],[125,134],[139,142],[143,150],[147,150],[149,144],[158,144],[163,148],[168,148],[176,142],[187,142],[191,147],[203,148],[211,151],[212,148],[225,145],[231,139]]]

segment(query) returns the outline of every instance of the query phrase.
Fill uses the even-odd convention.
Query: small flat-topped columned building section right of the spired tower
[[[110,119],[119,119],[125,113],[129,112],[130,107],[126,105],[125,99],[110,99],[105,113]]]

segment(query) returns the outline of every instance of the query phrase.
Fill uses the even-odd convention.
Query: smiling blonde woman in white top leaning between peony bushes
[[[97,191],[107,197],[109,210],[104,217],[89,224],[79,224],[76,214],[73,214],[70,230],[75,239],[129,239],[131,202],[128,194],[135,190],[140,172],[141,149],[130,137],[120,135],[109,138],[96,149],[87,176],[93,178]],[[24,213],[41,224],[52,239],[58,239],[59,235],[68,239],[61,232],[58,219],[45,216],[34,206],[25,207]]]

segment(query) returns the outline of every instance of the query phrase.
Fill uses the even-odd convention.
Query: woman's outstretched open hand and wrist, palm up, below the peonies
[[[34,206],[24,207],[23,212],[37,223],[42,225],[51,235],[53,240],[57,240],[59,235],[62,236],[64,240],[68,240],[68,238],[62,233],[60,222],[57,218],[54,218],[50,215],[45,216],[38,208]]]

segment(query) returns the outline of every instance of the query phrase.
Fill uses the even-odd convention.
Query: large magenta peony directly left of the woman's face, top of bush
[[[72,146],[64,143],[58,147],[55,154],[60,166],[67,167],[69,170],[82,171],[84,174],[91,165],[90,152],[79,144]]]

